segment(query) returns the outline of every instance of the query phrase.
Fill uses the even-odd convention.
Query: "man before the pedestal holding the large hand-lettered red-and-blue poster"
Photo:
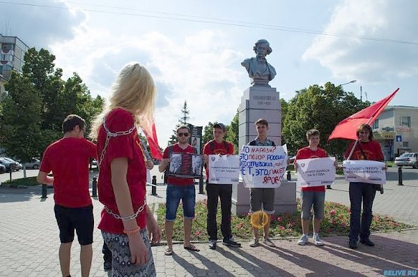
[[[275,146],[272,140],[267,137],[268,121],[265,119],[258,119],[255,123],[258,136],[255,140],[248,143],[251,146]],[[262,207],[263,206],[263,207]],[[274,188],[250,188],[249,193],[249,208],[250,213],[256,211],[263,211],[268,215],[268,223],[264,226],[264,241],[266,246],[273,247],[274,243],[270,240],[268,231],[270,229],[270,218],[274,214]],[[253,226],[254,239],[249,243],[249,246],[256,247],[258,242],[258,228]]]

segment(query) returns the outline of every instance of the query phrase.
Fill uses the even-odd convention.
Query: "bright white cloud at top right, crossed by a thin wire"
[[[414,1],[346,0],[334,10],[324,31],[418,42],[417,14]],[[302,58],[319,61],[344,80],[379,83],[418,75],[417,45],[318,36]]]

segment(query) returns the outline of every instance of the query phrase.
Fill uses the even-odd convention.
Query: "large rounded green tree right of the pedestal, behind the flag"
[[[288,150],[295,154],[307,145],[306,132],[316,128],[321,134],[321,145],[329,154],[341,156],[348,142],[332,140],[327,143],[332,130],[341,120],[370,105],[357,99],[353,93],[343,91],[341,86],[327,82],[324,87],[313,85],[296,92],[287,107],[282,126],[282,135]]]

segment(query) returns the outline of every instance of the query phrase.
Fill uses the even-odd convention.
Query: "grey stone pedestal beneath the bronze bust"
[[[281,145],[281,106],[279,93],[267,86],[254,85],[244,91],[239,107],[239,148],[257,136],[254,123],[258,119],[268,121],[268,138]],[[296,212],[296,183],[282,180],[275,189],[274,211],[276,214]],[[232,187],[232,212],[242,215],[249,212],[249,188],[242,181]]]

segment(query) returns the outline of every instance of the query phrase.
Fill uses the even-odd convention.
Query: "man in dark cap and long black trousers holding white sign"
[[[222,123],[213,125],[214,139],[205,144],[203,147],[203,158],[206,163],[206,191],[208,192],[208,217],[206,220],[206,230],[209,236],[209,248],[216,249],[217,243],[217,204],[218,197],[221,200],[222,222],[221,231],[224,237],[222,244],[226,246],[240,247],[241,244],[236,242],[231,232],[231,197],[232,184],[210,184],[208,155],[233,155],[233,144],[224,140],[226,128]]]

